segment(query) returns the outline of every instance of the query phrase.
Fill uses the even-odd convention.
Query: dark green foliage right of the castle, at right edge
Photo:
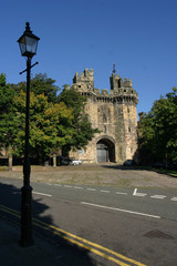
[[[153,161],[177,162],[177,89],[155,101],[139,123],[139,152]]]

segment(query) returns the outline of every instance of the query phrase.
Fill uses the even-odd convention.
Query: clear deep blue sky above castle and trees
[[[94,69],[95,88],[110,89],[115,63],[133,80],[139,103],[153,102],[177,86],[176,0],[6,0],[0,4],[0,73],[8,83],[25,80],[25,59],[17,40],[25,22],[41,38],[32,74],[46,73],[56,85],[72,84],[75,72]]]

